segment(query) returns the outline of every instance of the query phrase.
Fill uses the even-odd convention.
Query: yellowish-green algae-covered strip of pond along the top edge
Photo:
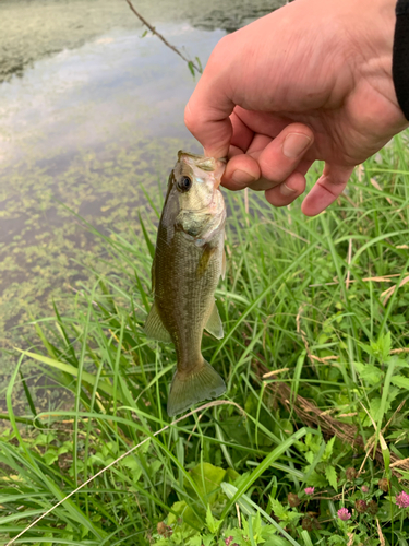
[[[285,3],[279,0],[135,0],[151,22],[183,23],[232,32]],[[75,49],[115,28],[140,22],[124,0],[2,0],[0,2],[0,82],[22,75],[36,60]]]

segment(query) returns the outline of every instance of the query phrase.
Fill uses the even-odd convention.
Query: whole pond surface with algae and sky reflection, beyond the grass
[[[280,3],[134,5],[205,64],[227,32]],[[183,124],[196,82],[143,31],[125,0],[0,0],[0,401],[29,316],[49,314],[99,251],[62,204],[99,229],[127,229],[142,186],[165,181],[179,149],[201,151]]]

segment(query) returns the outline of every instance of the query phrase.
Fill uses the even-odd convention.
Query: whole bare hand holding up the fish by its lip
[[[296,0],[214,49],[185,109],[206,155],[228,157],[222,185],[264,190],[275,206],[305,190],[309,216],[353,167],[408,127],[392,79],[395,0]]]

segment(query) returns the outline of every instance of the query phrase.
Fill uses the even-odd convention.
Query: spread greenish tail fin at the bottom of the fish
[[[189,373],[177,370],[170,385],[168,415],[172,417],[197,402],[217,399],[225,391],[225,381],[205,359]]]

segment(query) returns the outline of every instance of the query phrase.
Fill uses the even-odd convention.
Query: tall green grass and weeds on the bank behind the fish
[[[15,351],[1,544],[82,486],[14,544],[407,545],[408,509],[395,500],[409,490],[406,147],[407,134],[396,138],[315,218],[256,194],[246,214],[243,193],[226,192],[228,265],[216,294],[226,334],[203,342],[226,403],[175,424],[175,351],[142,330],[163,197],[148,195],[142,229],[88,226],[110,273],[89,269],[67,296],[71,311],[33,321],[37,343]],[[28,364],[63,393],[61,407],[37,413]],[[17,387],[26,415],[13,412]]]

